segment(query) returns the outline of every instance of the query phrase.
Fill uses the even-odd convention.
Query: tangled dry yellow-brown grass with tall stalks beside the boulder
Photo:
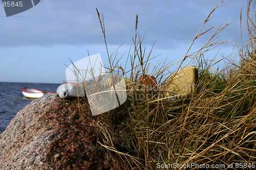
[[[188,55],[190,46],[186,56],[178,61],[181,65],[189,60],[189,64],[198,58],[199,85],[204,87],[186,100],[168,100],[159,95],[158,88],[138,88],[140,75],[154,75],[160,86],[172,64],[156,65],[154,72],[148,72],[151,51],[146,54],[142,48],[144,36],[137,34],[136,19],[134,54],[129,55],[132,70],[126,72],[134,83],[128,90],[131,96],[144,94],[151,98],[128,99],[120,107],[94,116],[92,121],[97,127],[98,143],[111,152],[132,159],[140,169],[155,169],[158,162],[225,164],[225,167],[231,163],[256,163],[256,27],[252,17],[254,13],[251,13],[254,8],[250,9],[254,4],[251,2],[248,1],[247,10],[249,41],[240,50],[239,65],[232,63],[222,70],[212,71],[211,66],[218,62],[208,63],[204,59],[206,50],[225,43],[215,42],[215,39],[227,25],[209,29],[216,29],[209,41],[197,52]],[[100,19],[99,13],[98,16]],[[100,23],[104,35],[101,19]],[[191,45],[207,32],[201,33],[201,29]],[[118,62],[112,62],[116,61],[115,58],[109,56],[110,70],[118,66]],[[227,70],[230,69],[232,75],[227,77]]]

